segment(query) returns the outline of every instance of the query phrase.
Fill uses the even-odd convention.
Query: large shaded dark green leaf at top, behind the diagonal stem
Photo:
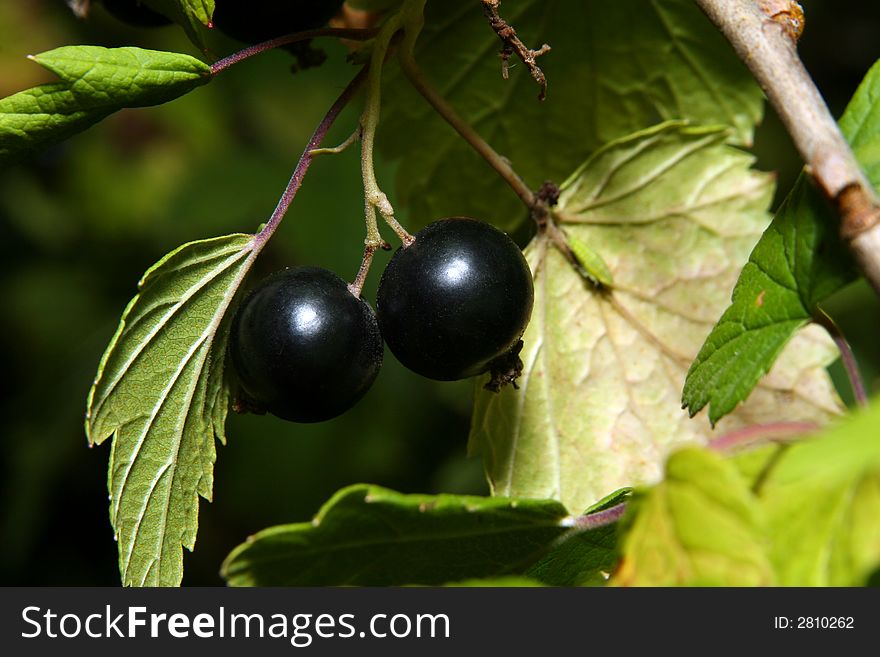
[[[416,57],[431,84],[536,189],[560,182],[603,144],[667,119],[732,126],[749,144],[762,94],[730,44],[689,0],[502,4],[531,47],[548,94],[511,60],[501,76],[500,41],[474,0],[429,2]],[[389,69],[383,101],[386,155],[399,158],[398,196],[408,225],[469,215],[511,228],[519,198]]]

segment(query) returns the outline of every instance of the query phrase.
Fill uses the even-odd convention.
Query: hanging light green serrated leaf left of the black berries
[[[252,235],[191,242],[150,268],[89,393],[86,432],[111,435],[110,520],[124,585],[177,586],[198,497],[211,499],[224,441],[227,309],[255,257]]]

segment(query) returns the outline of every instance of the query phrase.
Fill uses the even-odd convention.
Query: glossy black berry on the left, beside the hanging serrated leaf
[[[261,281],[232,320],[229,353],[248,405],[293,422],[351,408],[382,365],[376,316],[319,267]]]

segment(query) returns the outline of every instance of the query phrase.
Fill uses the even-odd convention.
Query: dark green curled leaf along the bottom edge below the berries
[[[574,528],[553,501],[403,495],[358,485],[339,491],[311,522],[249,538],[227,557],[223,576],[233,586],[439,585],[516,574],[552,580],[561,575],[549,564],[540,572],[529,566],[593,531]],[[566,572],[575,569],[568,559],[579,561],[581,573],[613,563],[610,553],[595,551],[574,550],[565,559]]]

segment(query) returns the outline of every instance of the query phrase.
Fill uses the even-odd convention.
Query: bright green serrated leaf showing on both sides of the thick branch
[[[840,127],[875,187],[880,186],[880,64],[853,96]],[[837,220],[801,174],[755,246],[732,303],[691,365],[682,402],[709,405],[717,422],[746,399],[817,305],[857,277],[834,234]]]

